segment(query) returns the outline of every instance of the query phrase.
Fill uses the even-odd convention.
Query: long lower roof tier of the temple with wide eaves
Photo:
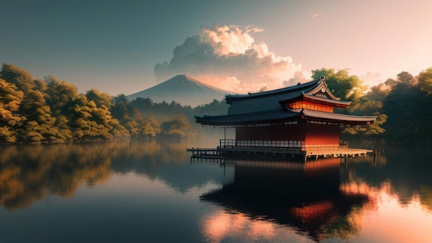
[[[306,109],[279,109],[233,115],[204,115],[202,117],[195,116],[197,123],[210,126],[236,126],[268,122],[286,122],[299,119],[360,125],[372,124],[376,118],[376,116],[344,115],[339,113],[326,113],[322,111]]]

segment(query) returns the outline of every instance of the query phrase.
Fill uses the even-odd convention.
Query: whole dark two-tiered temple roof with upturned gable
[[[269,90],[247,95],[226,95],[230,104],[226,115],[204,115],[195,117],[197,123],[212,126],[240,126],[242,124],[264,124],[298,119],[338,122],[341,124],[370,124],[375,116],[344,115],[308,109],[291,109],[290,101],[310,100],[321,104],[344,108],[350,101],[336,99],[327,88],[324,77],[277,90]]]

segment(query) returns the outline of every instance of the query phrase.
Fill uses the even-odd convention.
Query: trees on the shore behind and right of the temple
[[[370,126],[346,126],[345,139],[366,139],[393,144],[431,144],[432,142],[432,68],[417,76],[400,72],[395,79],[368,87],[348,69],[313,70],[313,78],[326,76],[333,95],[352,101],[342,113],[376,115]]]

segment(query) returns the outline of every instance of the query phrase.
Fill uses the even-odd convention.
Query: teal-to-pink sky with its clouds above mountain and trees
[[[430,0],[0,0],[0,62],[79,93],[179,74],[235,93],[349,69],[374,86],[432,67]]]

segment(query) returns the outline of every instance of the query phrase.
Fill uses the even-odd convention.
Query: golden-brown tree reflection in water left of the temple
[[[187,161],[183,142],[156,141],[90,144],[21,145],[0,148],[0,204],[8,210],[30,206],[47,193],[72,197],[81,184],[106,182],[112,167],[134,168]],[[161,153],[161,151],[164,153]]]

